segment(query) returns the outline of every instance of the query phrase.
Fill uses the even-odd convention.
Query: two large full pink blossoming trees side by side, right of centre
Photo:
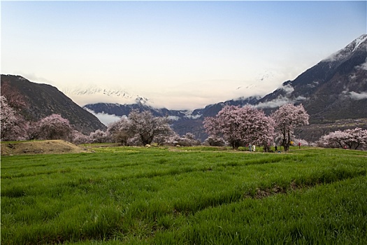
[[[288,151],[294,129],[307,125],[308,118],[302,105],[286,104],[271,116],[252,106],[224,106],[217,116],[205,118],[204,127],[211,139],[222,137],[233,149],[247,144],[268,148],[278,133]]]

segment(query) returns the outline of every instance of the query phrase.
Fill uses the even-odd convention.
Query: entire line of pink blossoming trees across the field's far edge
[[[201,141],[194,134],[183,136],[175,133],[167,117],[154,117],[150,111],[133,110],[108,125],[106,131],[96,130],[89,135],[73,128],[69,120],[52,114],[37,122],[25,120],[19,113],[24,106],[22,98],[8,100],[1,95],[1,141],[32,139],[63,139],[75,144],[118,143],[122,146],[146,146],[150,144],[171,146],[196,146]],[[215,117],[205,118],[203,126],[209,135],[204,142],[209,146],[263,146],[270,151],[271,146],[309,144],[295,139],[294,130],[308,125],[309,115],[302,105],[285,104],[270,116],[252,106],[225,106]],[[324,135],[315,144],[329,148],[366,149],[367,130],[356,128]]]

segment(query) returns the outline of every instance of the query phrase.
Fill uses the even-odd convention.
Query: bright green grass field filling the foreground
[[[179,149],[1,157],[1,244],[366,244],[367,152]]]

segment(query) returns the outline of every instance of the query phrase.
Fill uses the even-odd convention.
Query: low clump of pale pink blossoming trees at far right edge
[[[337,130],[322,136],[318,145],[326,148],[349,148],[357,150],[367,146],[367,130],[356,127],[351,130]]]

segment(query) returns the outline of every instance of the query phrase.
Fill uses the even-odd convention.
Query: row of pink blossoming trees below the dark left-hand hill
[[[131,111],[128,117],[122,117],[109,125],[108,130],[96,130],[89,136],[73,129],[66,118],[52,114],[38,122],[29,122],[19,113],[20,110],[10,106],[6,97],[1,96],[1,140],[20,139],[63,139],[80,143],[118,142],[122,145],[147,145],[152,141],[163,143],[173,130],[168,118],[154,117],[149,111]]]

